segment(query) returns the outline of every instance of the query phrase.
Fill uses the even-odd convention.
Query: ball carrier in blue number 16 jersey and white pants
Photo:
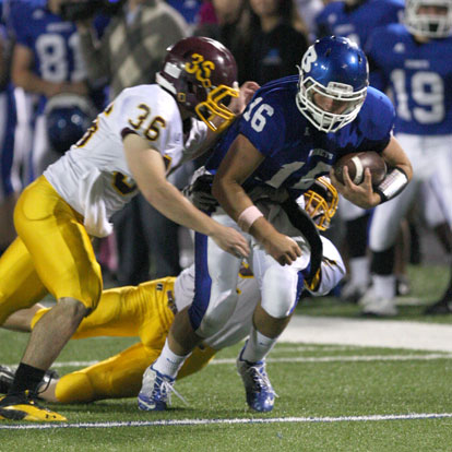
[[[251,409],[273,408],[265,356],[284,331],[304,284],[319,283],[322,250],[294,200],[329,173],[338,191],[362,207],[399,194],[412,178],[412,167],[392,135],[393,123],[390,99],[368,87],[364,51],[347,38],[325,37],[306,51],[299,76],[258,90],[206,163],[215,173],[212,192],[219,202],[212,217],[249,241],[249,264],[261,289],[249,340],[237,359]],[[342,155],[369,150],[379,152],[391,168],[376,189],[368,169],[359,186],[348,173],[340,183],[330,171]],[[193,302],[176,316],[160,356],[144,373],[141,409],[166,409],[187,356],[227,321],[237,301],[240,262],[240,257],[227,255],[197,235]]]

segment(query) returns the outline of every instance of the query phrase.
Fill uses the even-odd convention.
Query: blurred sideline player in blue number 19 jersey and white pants
[[[367,47],[373,67],[371,83],[393,92],[394,130],[415,174],[415,183],[377,207],[372,219],[373,284],[361,304],[365,313],[377,316],[397,312],[393,275],[397,226],[419,186],[431,177],[441,214],[449,225],[452,222],[452,1],[408,0],[405,8],[405,24],[376,29]],[[452,299],[452,289],[445,297]]]

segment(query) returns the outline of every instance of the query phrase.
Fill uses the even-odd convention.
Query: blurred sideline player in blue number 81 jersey
[[[62,20],[61,2],[15,0],[11,3],[10,21],[16,38],[12,80],[26,93],[39,96],[34,118],[31,180],[60,156],[48,142],[44,114],[47,99],[61,93],[85,98],[90,95],[79,33],[75,24]]]

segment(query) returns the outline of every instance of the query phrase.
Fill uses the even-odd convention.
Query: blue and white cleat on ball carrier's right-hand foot
[[[276,393],[265,371],[265,360],[249,362],[242,359],[246,344],[237,358],[237,371],[243,381],[247,403],[255,412],[271,412]]]

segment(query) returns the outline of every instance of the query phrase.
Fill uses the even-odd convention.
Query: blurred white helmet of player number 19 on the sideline
[[[444,14],[419,14],[421,7],[439,7]],[[406,0],[405,25],[409,33],[429,38],[452,35],[452,0]]]

